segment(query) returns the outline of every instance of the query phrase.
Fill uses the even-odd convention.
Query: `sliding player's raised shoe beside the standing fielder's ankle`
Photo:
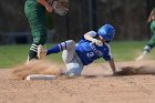
[[[43,48],[43,45],[38,45],[38,58],[43,59],[46,55],[46,50]]]

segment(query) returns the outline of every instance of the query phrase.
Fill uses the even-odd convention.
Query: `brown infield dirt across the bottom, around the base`
[[[117,62],[117,68],[123,71],[118,76],[111,75],[106,63],[95,63],[84,69],[83,76],[51,81],[19,80],[13,74],[14,69],[1,69],[0,103],[155,103],[154,63]],[[39,70],[38,73],[46,74],[41,68]],[[22,73],[28,74],[28,71]]]

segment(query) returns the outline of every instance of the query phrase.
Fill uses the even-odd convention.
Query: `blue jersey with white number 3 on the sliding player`
[[[87,32],[91,37],[96,37],[96,32]],[[112,59],[111,48],[107,43],[104,43],[103,47],[97,47],[91,41],[87,41],[82,37],[81,41],[76,44],[75,52],[80,56],[82,63],[87,65],[94,60],[103,58],[105,61]]]

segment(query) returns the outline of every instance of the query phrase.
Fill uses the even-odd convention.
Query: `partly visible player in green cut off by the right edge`
[[[145,45],[143,53],[136,60],[144,59],[144,56],[155,47],[155,9],[152,10],[148,22],[151,22],[151,32],[153,35],[148,43]]]

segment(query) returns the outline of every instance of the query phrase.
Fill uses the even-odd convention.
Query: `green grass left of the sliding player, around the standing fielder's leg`
[[[53,44],[49,44],[46,48],[52,45]],[[30,44],[0,45],[0,68],[12,68],[24,63],[27,61],[29,47]],[[50,55],[48,59],[62,63],[61,53]]]

